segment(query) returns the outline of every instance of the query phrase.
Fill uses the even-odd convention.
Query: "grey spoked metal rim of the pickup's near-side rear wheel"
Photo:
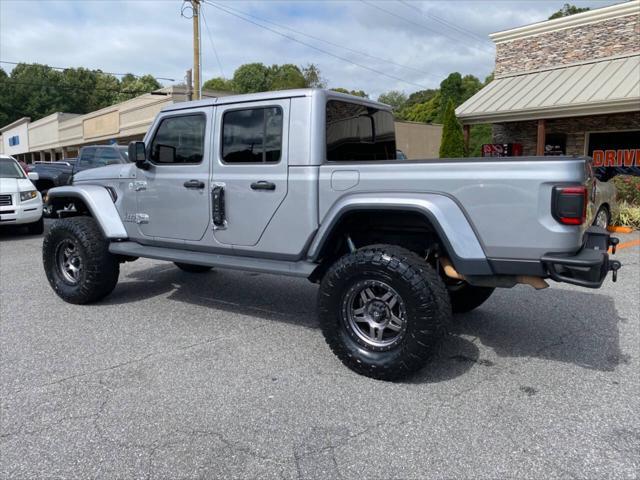
[[[348,328],[361,343],[374,349],[389,348],[407,330],[407,311],[402,297],[379,280],[356,283],[344,297]]]

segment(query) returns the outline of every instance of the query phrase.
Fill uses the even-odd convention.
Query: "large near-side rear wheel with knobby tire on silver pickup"
[[[440,276],[413,252],[391,245],[339,259],[322,279],[318,304],[331,350],[350,369],[380,380],[421,369],[451,321]]]

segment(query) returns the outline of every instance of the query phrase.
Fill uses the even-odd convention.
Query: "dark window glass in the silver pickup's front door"
[[[204,115],[169,117],[160,122],[149,159],[154,163],[200,163],[204,155]]]

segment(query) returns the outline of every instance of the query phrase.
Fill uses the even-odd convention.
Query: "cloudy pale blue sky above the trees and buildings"
[[[489,33],[545,20],[567,0],[206,1],[227,12],[203,6],[210,32],[203,23],[204,79],[231,77],[249,62],[315,63],[330,87],[362,89],[375,98],[392,89],[435,87],[453,71],[483,79],[493,70]],[[571,3],[598,8],[620,2]],[[175,79],[162,80],[165,85],[181,82],[192,62],[191,21],[181,17],[182,5],[0,0],[0,61],[150,73]]]

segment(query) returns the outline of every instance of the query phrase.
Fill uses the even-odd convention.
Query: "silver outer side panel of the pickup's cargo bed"
[[[554,185],[589,181],[588,157],[508,157],[329,163],[320,167],[319,218],[345,195],[433,193],[455,201],[491,259],[575,252],[587,225],[551,215]],[[587,222],[588,223],[588,222]]]

